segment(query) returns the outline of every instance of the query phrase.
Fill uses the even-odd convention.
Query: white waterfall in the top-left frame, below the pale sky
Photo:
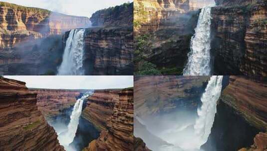
[[[85,29],[72,29],[66,41],[63,61],[58,75],[84,75],[84,32]]]

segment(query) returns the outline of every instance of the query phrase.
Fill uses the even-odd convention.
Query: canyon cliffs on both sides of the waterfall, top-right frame
[[[182,75],[200,9],[196,0],[135,0],[135,72],[145,62],[160,75]],[[214,1],[213,1],[214,2]],[[215,0],[212,75],[266,76],[266,0]],[[225,66],[226,65],[226,66]],[[142,74],[142,73],[141,73]]]

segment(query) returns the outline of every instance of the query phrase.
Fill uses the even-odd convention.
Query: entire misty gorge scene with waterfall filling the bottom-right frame
[[[134,83],[135,151],[267,149],[265,77],[138,76]]]

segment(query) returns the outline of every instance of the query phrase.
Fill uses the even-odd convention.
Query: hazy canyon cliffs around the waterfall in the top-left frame
[[[70,30],[80,28],[85,30],[83,75],[132,75],[133,3],[99,10],[90,19],[6,2],[0,6],[1,75],[57,75]]]

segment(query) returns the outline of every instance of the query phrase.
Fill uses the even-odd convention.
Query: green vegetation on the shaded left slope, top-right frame
[[[138,36],[134,45],[134,66],[135,75],[161,75],[156,65],[149,63],[145,53],[149,51],[149,35]]]

